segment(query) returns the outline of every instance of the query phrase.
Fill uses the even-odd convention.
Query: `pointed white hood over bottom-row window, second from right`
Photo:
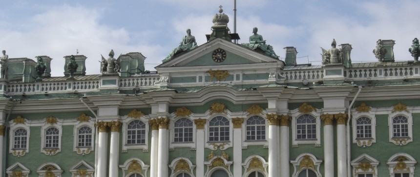
[[[363,171],[363,169],[359,168],[359,163],[366,160],[370,162],[371,167],[369,167],[367,171]],[[353,177],[357,177],[357,175],[361,174],[372,174],[373,177],[378,177],[379,161],[374,157],[371,157],[367,154],[362,154],[356,157],[350,163],[353,166]]]

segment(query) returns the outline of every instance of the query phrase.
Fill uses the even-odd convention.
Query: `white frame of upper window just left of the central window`
[[[196,142],[196,137],[195,136],[196,135],[195,134],[197,132],[197,129],[196,129],[194,120],[191,119],[191,118],[186,118],[186,119],[189,119],[192,122],[192,126],[191,126],[191,128],[192,128],[192,141],[191,142],[175,142],[175,122],[180,120],[180,119],[183,119],[183,118],[186,118],[186,117],[173,118],[173,121],[171,120],[169,122],[169,131],[170,131],[169,138],[170,138],[170,142],[171,142],[171,143],[169,143],[169,148],[170,149],[174,149],[174,148],[178,148],[178,147],[189,147],[189,148],[195,148],[196,147],[196,145],[195,145],[195,142]]]

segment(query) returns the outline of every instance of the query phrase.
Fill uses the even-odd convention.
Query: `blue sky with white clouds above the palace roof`
[[[64,56],[84,55],[86,74],[100,74],[101,54],[140,52],[146,70],[179,45],[191,29],[198,45],[207,42],[219,5],[230,18],[233,0],[4,0],[0,50],[11,58],[49,56],[52,76],[63,76]],[[237,0],[237,33],[248,42],[258,27],[275,53],[296,47],[297,63],[321,64],[331,42],[352,44],[351,59],[375,62],[378,39],[393,39],[395,59],[413,60],[408,48],[420,38],[418,0]]]

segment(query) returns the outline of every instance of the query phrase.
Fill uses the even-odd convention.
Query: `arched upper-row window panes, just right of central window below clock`
[[[247,140],[265,139],[265,119],[259,116],[252,116],[247,120]]]

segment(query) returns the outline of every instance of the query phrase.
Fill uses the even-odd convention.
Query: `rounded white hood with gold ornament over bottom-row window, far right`
[[[399,162],[398,157],[401,156],[406,158],[406,160],[403,161],[406,165],[404,170],[396,169],[397,163]],[[397,153],[390,157],[386,162],[386,164],[388,164],[390,177],[394,177],[395,173],[409,173],[410,177],[414,177],[414,169],[416,168],[414,165],[416,165],[416,163],[416,159],[405,153]]]

